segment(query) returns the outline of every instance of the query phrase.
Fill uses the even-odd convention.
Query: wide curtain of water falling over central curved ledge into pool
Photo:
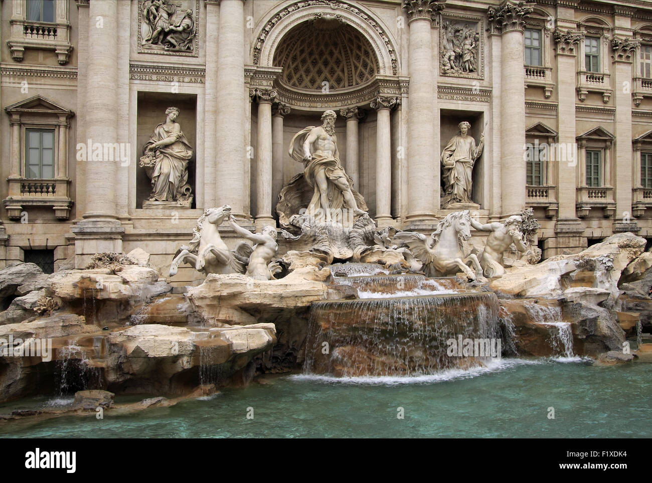
[[[448,341],[495,339],[497,312],[488,292],[315,302],[304,371],[419,376],[479,365],[490,357],[449,355]]]

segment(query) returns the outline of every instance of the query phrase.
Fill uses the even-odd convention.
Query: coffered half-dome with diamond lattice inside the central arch
[[[279,81],[304,90],[352,89],[372,82],[379,72],[371,44],[348,23],[317,18],[283,36],[274,51]]]

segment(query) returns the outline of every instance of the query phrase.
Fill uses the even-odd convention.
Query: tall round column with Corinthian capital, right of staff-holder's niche
[[[526,206],[526,94],[523,68],[525,17],[533,5],[507,0],[489,7],[492,28],[501,31],[501,204],[502,215]]]

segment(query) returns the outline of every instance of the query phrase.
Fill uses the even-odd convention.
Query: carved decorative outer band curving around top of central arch
[[[329,8],[330,11],[337,11],[338,9],[342,10],[347,10],[351,14],[358,16],[362,20],[364,20],[374,31],[378,33],[378,35],[383,39],[383,42],[385,43],[385,48],[387,49],[387,52],[389,53],[389,58],[391,59],[392,62],[392,74],[396,76],[398,74],[398,63],[396,62],[396,53],[394,52],[394,48],[389,41],[389,36],[383,28],[378,25],[378,22],[372,19],[370,16],[368,16],[366,13],[363,12],[363,10],[360,10],[360,8],[354,7],[353,5],[350,5],[349,3],[345,3],[343,1],[339,0],[299,0],[291,3],[290,5],[286,5],[286,7],[282,8],[281,10],[278,10],[276,14],[270,18],[267,23],[265,23],[265,27],[260,31],[258,34],[258,37],[256,38],[256,42],[254,42],[254,52],[253,52],[253,61],[254,64],[258,65],[260,62],[260,53],[263,49],[263,44],[265,44],[265,40],[267,39],[267,36],[269,36],[269,33],[271,30],[274,28],[274,25],[278,23],[282,18],[288,16],[289,14],[292,14],[293,12],[297,12],[297,10],[301,10],[302,8],[309,8],[309,7],[324,7],[324,8]]]

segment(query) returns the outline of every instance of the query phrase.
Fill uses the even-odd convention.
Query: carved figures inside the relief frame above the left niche
[[[194,53],[196,18],[192,9],[170,0],[144,0],[141,4],[142,47],[161,53]],[[186,5],[189,5],[186,2]]]

